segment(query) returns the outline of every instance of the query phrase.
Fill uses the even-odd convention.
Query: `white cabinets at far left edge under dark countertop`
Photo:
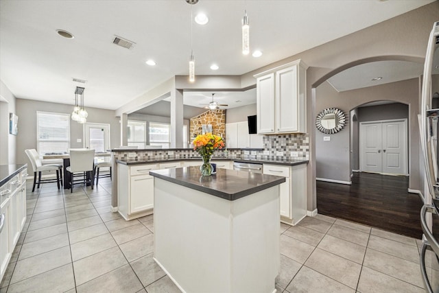
[[[23,169],[0,188],[0,279],[26,221],[26,176]]]

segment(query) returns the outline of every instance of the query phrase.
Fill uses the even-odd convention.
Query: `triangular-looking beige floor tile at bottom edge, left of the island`
[[[142,289],[143,285],[127,264],[78,286],[77,292],[135,293]]]

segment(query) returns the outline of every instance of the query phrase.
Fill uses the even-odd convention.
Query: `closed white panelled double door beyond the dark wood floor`
[[[361,122],[360,171],[407,175],[407,119]]]

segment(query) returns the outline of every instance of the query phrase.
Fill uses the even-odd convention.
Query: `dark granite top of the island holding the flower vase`
[[[217,169],[217,174],[201,176],[199,167],[182,167],[150,171],[150,175],[202,191],[226,200],[237,200],[285,182],[285,177]]]

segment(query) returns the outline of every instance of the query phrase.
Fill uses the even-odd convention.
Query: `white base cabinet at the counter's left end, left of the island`
[[[150,215],[154,207],[154,177],[150,171],[158,164],[117,164],[118,211],[125,220]]]

